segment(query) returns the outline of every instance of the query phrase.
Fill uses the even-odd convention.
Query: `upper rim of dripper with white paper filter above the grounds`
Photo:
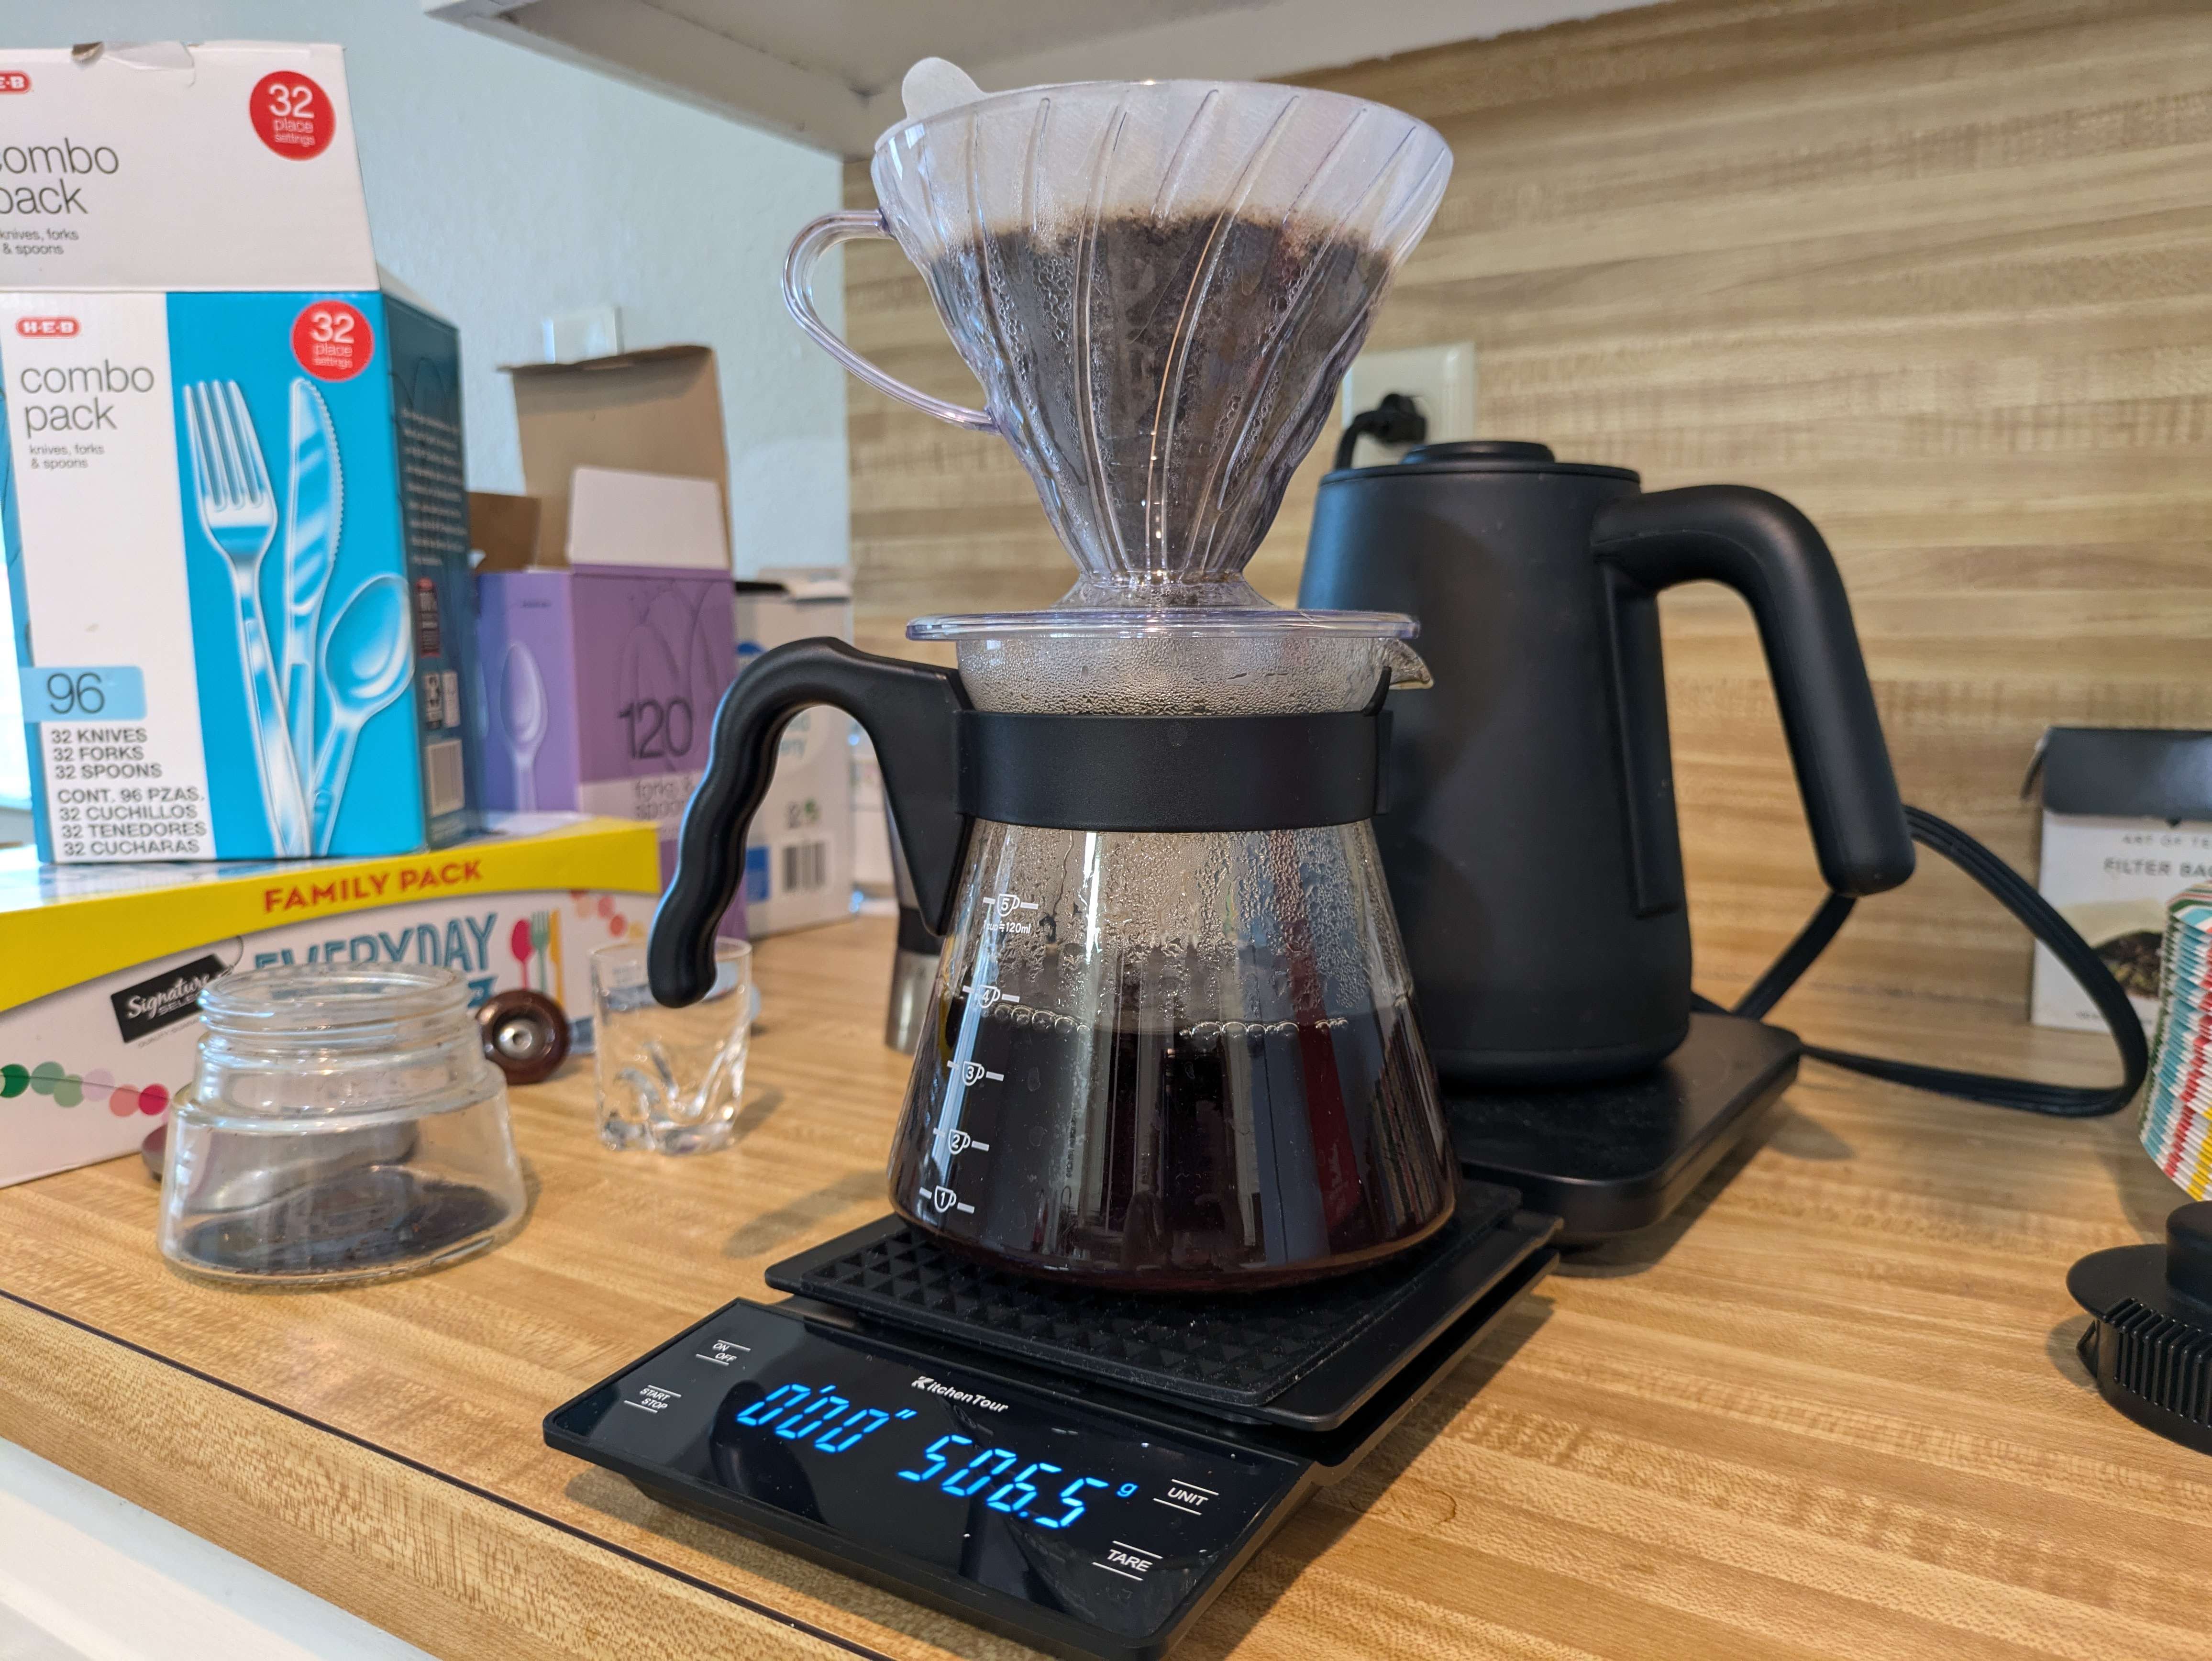
[[[1451,148],[1402,111],[1259,82],[1073,82],[984,93],[925,58],[876,142],[876,199],[927,263],[978,228],[1075,234],[1095,217],[1234,212],[1402,252]]]

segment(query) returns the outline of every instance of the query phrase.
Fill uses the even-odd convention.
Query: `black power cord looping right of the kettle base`
[[[2097,1013],[2104,1015],[2104,1024],[2112,1031],[2112,1044],[2119,1046],[2119,1064],[2126,1077],[2112,1088],[2079,1088],[2070,1084],[2008,1079],[1991,1073],[1962,1073],[1949,1066],[1920,1066],[1918,1062],[1891,1062],[1880,1055],[1854,1055],[1851,1051],[1829,1051],[1818,1044],[1807,1044],[1805,1053],[1816,1062],[1845,1066],[1854,1073],[1887,1079],[1889,1084],[1909,1084],[1916,1090],[1986,1101],[1995,1108],[2044,1112],[2055,1119],[2095,1119],[2128,1106],[2143,1086],[2143,1075],[2150,1070],[2150,1046],[2143,1042],[2143,1024],[2135,1015],[2135,1004],[2128,1002],[2128,993],[2112,980],[2112,971],[2090,951],[2090,944],[2075,927],[2051,909],[2051,902],[2042,894],[2020,880],[2020,874],[2011,865],[1958,825],[1936,818],[1936,814],[1922,807],[1907,807],[1905,823],[1911,827],[1916,843],[1933,854],[1942,854],[1980,882],[1997,905],[2020,918],[2028,933],[2051,947],[2057,960],[2066,964],[2066,973],[2090,995]],[[1767,967],[1728,1013],[1759,1020],[1774,1009],[1783,993],[1812,969],[1814,958],[1827,949],[1827,942],[1836,938],[1843,920],[1851,916],[1851,898],[1845,894],[1829,894],[1820,900],[1820,909],[1812,913],[1798,938],[1790,942],[1783,955]],[[1719,1004],[1705,997],[1699,997],[1697,1004],[1710,1011],[1719,1009]]]

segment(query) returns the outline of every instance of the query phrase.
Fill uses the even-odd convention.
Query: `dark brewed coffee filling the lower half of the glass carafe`
[[[1405,1004],[1314,1022],[938,1009],[891,1197],[951,1245],[1128,1289],[1276,1285],[1400,1250],[1455,1166]]]

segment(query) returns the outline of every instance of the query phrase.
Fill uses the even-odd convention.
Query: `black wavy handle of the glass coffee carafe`
[[[706,776],[684,809],[675,880],[646,947],[653,995],[670,1009],[697,1004],[714,984],[714,924],[745,869],[745,829],[774,779],[783,728],[814,703],[867,730],[922,918],[936,933],[951,922],[971,825],[956,801],[958,714],[969,708],[960,677],[841,639],[794,639],[748,664],[714,712]]]

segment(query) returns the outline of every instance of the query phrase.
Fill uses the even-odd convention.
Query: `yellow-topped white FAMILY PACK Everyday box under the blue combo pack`
[[[480,1004],[555,997],[591,1046],[591,951],[650,924],[644,825],[515,818],[438,854],[40,867],[0,854],[0,1183],[137,1148],[190,1086],[199,991],[274,962],[431,962]]]

